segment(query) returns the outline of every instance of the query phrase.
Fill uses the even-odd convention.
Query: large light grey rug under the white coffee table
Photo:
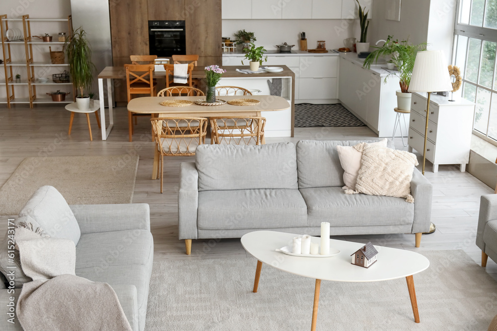
[[[405,278],[322,281],[316,330],[487,330],[497,282],[464,251],[420,253],[430,266],[414,275],[419,324]],[[315,279],[262,265],[252,293],[255,265],[253,258],[154,261],[145,330],[309,330]]]

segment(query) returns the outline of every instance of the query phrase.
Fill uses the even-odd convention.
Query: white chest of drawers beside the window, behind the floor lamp
[[[426,128],[426,93],[413,93],[409,121],[409,151],[423,153]],[[465,99],[448,101],[436,94],[430,97],[430,114],[426,140],[426,159],[433,163],[433,172],[439,164],[460,164],[466,170],[469,162],[475,104]]]

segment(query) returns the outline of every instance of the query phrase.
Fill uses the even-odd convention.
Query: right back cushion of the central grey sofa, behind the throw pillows
[[[336,146],[353,146],[360,142],[379,140],[300,140],[297,142],[299,188],[344,186],[343,169]],[[392,140],[388,140],[387,146],[395,148]]]

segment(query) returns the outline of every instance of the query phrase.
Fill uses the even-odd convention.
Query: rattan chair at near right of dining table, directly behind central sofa
[[[258,116],[211,117],[211,144],[260,145],[266,119]]]

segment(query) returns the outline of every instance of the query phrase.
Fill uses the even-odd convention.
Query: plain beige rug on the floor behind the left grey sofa
[[[0,189],[0,215],[18,215],[44,185],[69,204],[131,203],[138,155],[28,157]]]

